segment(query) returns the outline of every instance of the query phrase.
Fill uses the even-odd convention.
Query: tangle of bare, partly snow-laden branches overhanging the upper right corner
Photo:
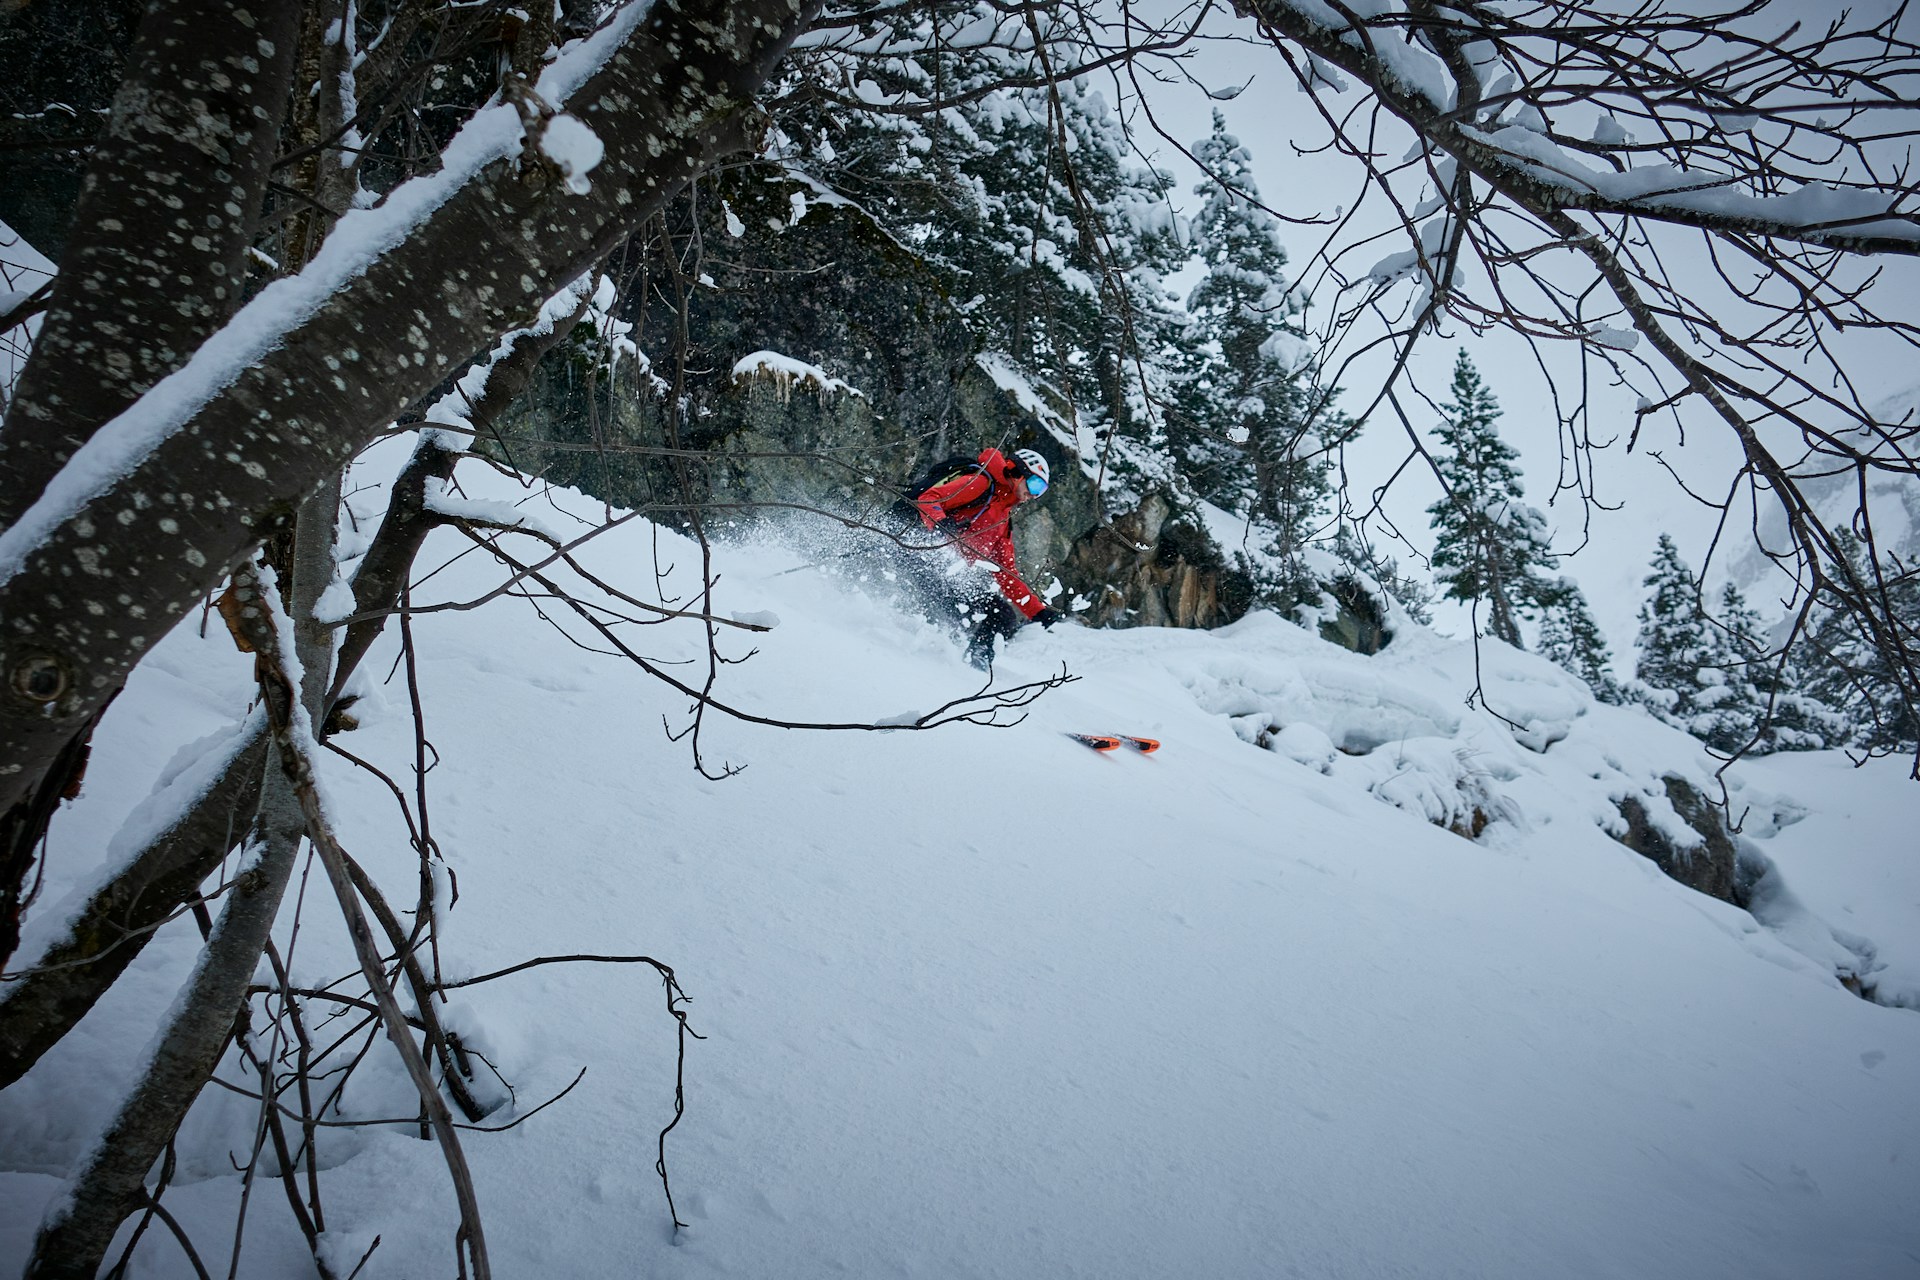
[[[1377,236],[1342,228],[1317,259],[1340,294],[1327,338],[1396,349],[1379,399],[1450,317],[1519,332],[1544,372],[1540,344],[1571,345],[1582,386],[1642,391],[1642,424],[1703,407],[1743,459],[1716,505],[1784,514],[1789,541],[1772,555],[1799,583],[1789,604],[1822,595],[1857,616],[1920,704],[1920,654],[1885,593],[1849,568],[1845,522],[1801,493],[1859,472],[1851,524],[1870,530],[1864,476],[1920,476],[1920,430],[1880,420],[1857,365],[1920,355],[1901,282],[1920,257],[1920,42],[1905,6],[1816,21],[1776,0],[1235,8],[1311,94],[1361,200],[1404,232],[1386,234],[1407,248],[1380,257]],[[1348,83],[1338,104],[1323,65]],[[1413,138],[1404,157],[1382,146],[1396,119]],[[1411,301],[1392,301],[1405,280]],[[1386,338],[1356,338],[1382,317]],[[1588,395],[1569,403],[1569,487],[1592,501]]]

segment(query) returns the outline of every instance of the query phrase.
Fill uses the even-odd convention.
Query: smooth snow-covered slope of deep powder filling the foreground
[[[378,482],[390,445],[361,468]],[[474,499],[515,493],[463,470]],[[564,535],[568,516],[536,499]],[[369,489],[353,499],[380,505]],[[563,495],[561,505],[568,505]],[[570,505],[597,514],[593,503]],[[430,543],[451,557],[463,539]],[[630,589],[687,543],[630,524],[588,564]],[[778,543],[722,547],[720,693],[783,718],[879,722],[973,687],[958,651]],[[468,599],[478,555],[417,603]],[[54,825],[27,954],[98,875],[175,752],[236,718],[250,658],[188,622],[98,737]],[[682,629],[672,629],[678,626]],[[636,629],[693,658],[685,624]],[[1611,841],[1659,777],[1711,783],[1690,739],[1596,706],[1553,668],[1407,631],[1375,658],[1275,618],[1213,633],[1029,628],[1002,683],[1079,679],[1023,723],[799,733],[708,716],[701,779],[662,716],[685,699],[586,652],[522,601],[422,614],[440,766],[434,835],[459,875],[451,973],[536,954],[676,967],[705,1040],[668,1140],[691,1226],[653,1171],[674,1025],[647,969],[541,967],[461,992],[451,1023],[515,1082],[467,1134],[499,1276],[1912,1276],[1920,1270],[1920,787],[1786,756],[1730,773],[1776,865],[1768,923]],[[409,785],[403,674],[342,745]],[[697,677],[705,668],[672,668]],[[1511,723],[1509,723],[1511,722]],[[1164,739],[1091,752],[1064,731]],[[1265,741],[1269,748],[1258,743]],[[1344,750],[1342,750],[1344,748]],[[1348,754],[1357,752],[1357,754]],[[338,758],[344,844],[411,900],[386,789]],[[1434,825],[1473,810],[1478,841]],[[298,883],[296,883],[298,887]],[[309,910],[292,967],[351,967]],[[127,1084],[192,961],[177,921],[21,1084],[0,1094],[0,1259]],[[1920,1000],[1916,1000],[1920,1004]],[[384,1046],[346,1098],[409,1117]],[[252,1103],[209,1090],[169,1205],[221,1267]],[[330,1130],[342,1270],[451,1274],[455,1209],[413,1125]],[[307,1274],[276,1186],[238,1274]],[[192,1274],[157,1230],[136,1276]]]

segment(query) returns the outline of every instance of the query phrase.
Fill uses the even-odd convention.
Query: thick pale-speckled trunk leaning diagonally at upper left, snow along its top
[[[588,192],[520,157],[513,107],[482,111],[442,173],[342,219],[307,271],[100,428],[0,535],[0,674],[15,691],[0,708],[0,804],[36,787],[140,652],[301,493],[743,146],[753,90],[804,19],[801,0],[632,6],[540,84],[605,148]],[[60,585],[75,574],[123,583],[111,622]]]

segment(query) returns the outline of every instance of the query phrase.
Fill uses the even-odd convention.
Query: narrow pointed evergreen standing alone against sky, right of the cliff
[[[1427,509],[1434,528],[1434,580],[1453,601],[1484,603],[1486,629],[1521,649],[1521,616],[1538,608],[1553,568],[1546,516],[1521,501],[1519,455],[1500,438],[1500,401],[1459,353],[1453,397],[1436,434],[1450,493]]]

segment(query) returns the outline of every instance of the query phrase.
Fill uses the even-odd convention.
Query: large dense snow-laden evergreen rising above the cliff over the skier
[[[883,13],[870,21],[885,31]],[[925,38],[793,61],[774,159],[872,219],[902,273],[939,280],[920,305],[950,313],[952,347],[1014,365],[1089,439],[1117,430],[1152,451],[1148,401],[1167,393],[1185,326],[1164,284],[1185,255],[1171,177],[1133,159],[1092,77],[1044,84],[1033,50],[966,35],[1004,13],[941,4],[925,21]],[[1073,61],[1071,33],[1048,40],[1056,65]],[[847,84],[954,106],[847,111],[833,106]],[[1129,449],[1108,461],[1110,476],[1139,466]]]

